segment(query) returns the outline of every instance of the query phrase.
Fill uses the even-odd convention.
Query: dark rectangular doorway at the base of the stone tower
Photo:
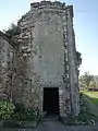
[[[59,88],[44,88],[44,111],[47,115],[59,115]]]

